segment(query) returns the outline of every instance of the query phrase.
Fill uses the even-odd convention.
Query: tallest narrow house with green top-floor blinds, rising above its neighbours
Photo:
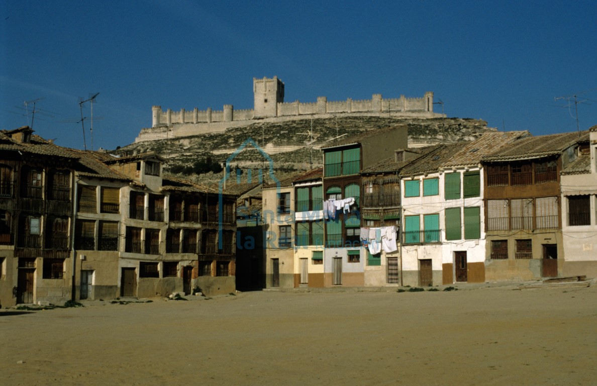
[[[368,258],[361,246],[361,171],[408,145],[407,127],[370,130],[358,136],[338,140],[322,148],[324,152],[323,198],[352,204],[325,218],[324,285],[365,286],[365,267],[379,265]]]

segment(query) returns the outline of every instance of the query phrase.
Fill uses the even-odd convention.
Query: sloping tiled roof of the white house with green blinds
[[[507,148],[516,139],[530,136],[528,131],[493,131],[484,133],[472,142],[464,143],[442,167],[469,166],[481,163],[485,155]]]

